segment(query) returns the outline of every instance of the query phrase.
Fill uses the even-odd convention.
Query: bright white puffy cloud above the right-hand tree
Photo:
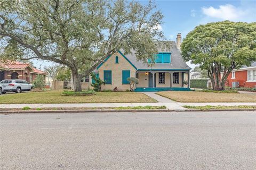
[[[220,5],[219,8],[214,8],[212,6],[202,7],[202,11],[207,16],[223,20],[238,20],[246,14],[246,11],[231,4]]]

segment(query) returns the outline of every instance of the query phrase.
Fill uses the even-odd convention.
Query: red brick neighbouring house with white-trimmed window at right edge
[[[256,62],[251,66],[243,66],[241,69],[233,70],[226,82],[229,87],[256,88]]]

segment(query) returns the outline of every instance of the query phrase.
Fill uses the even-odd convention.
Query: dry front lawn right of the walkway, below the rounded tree
[[[202,91],[161,91],[157,92],[157,94],[183,103],[256,102],[256,94],[214,93]]]

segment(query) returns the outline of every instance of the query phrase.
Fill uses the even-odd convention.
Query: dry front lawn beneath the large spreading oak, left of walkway
[[[153,103],[155,99],[138,92],[97,92],[93,96],[62,96],[62,90],[22,92],[0,96],[0,104],[58,103]]]

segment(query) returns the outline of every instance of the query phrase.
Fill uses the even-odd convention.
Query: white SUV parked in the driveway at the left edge
[[[32,84],[25,80],[2,80],[0,84],[3,86],[3,94],[7,91],[14,91],[20,93],[21,91],[30,91]]]

